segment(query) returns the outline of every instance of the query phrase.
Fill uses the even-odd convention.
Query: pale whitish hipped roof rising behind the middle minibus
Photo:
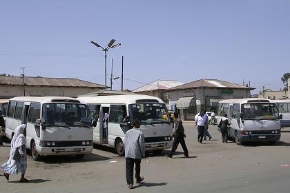
[[[136,90],[133,90],[133,92],[145,92],[145,91],[152,91],[152,90],[166,90],[168,88],[173,88],[178,85],[182,85],[183,83],[180,81],[162,81],[157,80],[152,83],[148,83],[147,85],[144,85],[140,88],[137,88]]]

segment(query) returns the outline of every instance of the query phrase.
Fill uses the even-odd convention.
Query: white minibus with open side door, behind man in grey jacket
[[[131,129],[128,121],[139,119],[146,151],[162,152],[171,148],[173,129],[168,119],[167,108],[161,99],[142,94],[83,96],[78,99],[88,104],[90,115],[96,121],[94,143],[115,148],[117,154],[124,155],[125,133]],[[108,114],[105,123],[108,125],[108,134],[104,128],[103,114]]]

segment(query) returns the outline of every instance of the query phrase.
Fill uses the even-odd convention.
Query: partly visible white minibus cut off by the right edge
[[[276,103],[279,114],[282,114],[281,128],[290,127],[290,99],[273,100]]]

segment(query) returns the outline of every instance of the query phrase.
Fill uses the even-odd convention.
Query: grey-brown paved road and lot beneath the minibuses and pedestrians
[[[193,123],[184,123],[191,158],[177,149],[173,159],[149,154],[142,160],[144,183],[128,190],[124,157],[96,147],[77,161],[74,156],[52,156],[41,162],[28,157],[27,178],[7,182],[0,175],[0,192],[290,192],[290,128],[275,145],[221,143],[220,133],[210,126],[213,140],[197,143]],[[0,163],[8,159],[10,144],[0,148]]]

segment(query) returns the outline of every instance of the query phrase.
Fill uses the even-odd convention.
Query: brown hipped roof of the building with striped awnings
[[[218,79],[200,79],[197,81],[193,81],[190,83],[185,83],[183,85],[173,87],[169,90],[182,90],[182,89],[189,89],[189,88],[240,88],[240,89],[249,89],[249,90],[255,89],[255,88],[247,87],[244,85],[221,81]]]

